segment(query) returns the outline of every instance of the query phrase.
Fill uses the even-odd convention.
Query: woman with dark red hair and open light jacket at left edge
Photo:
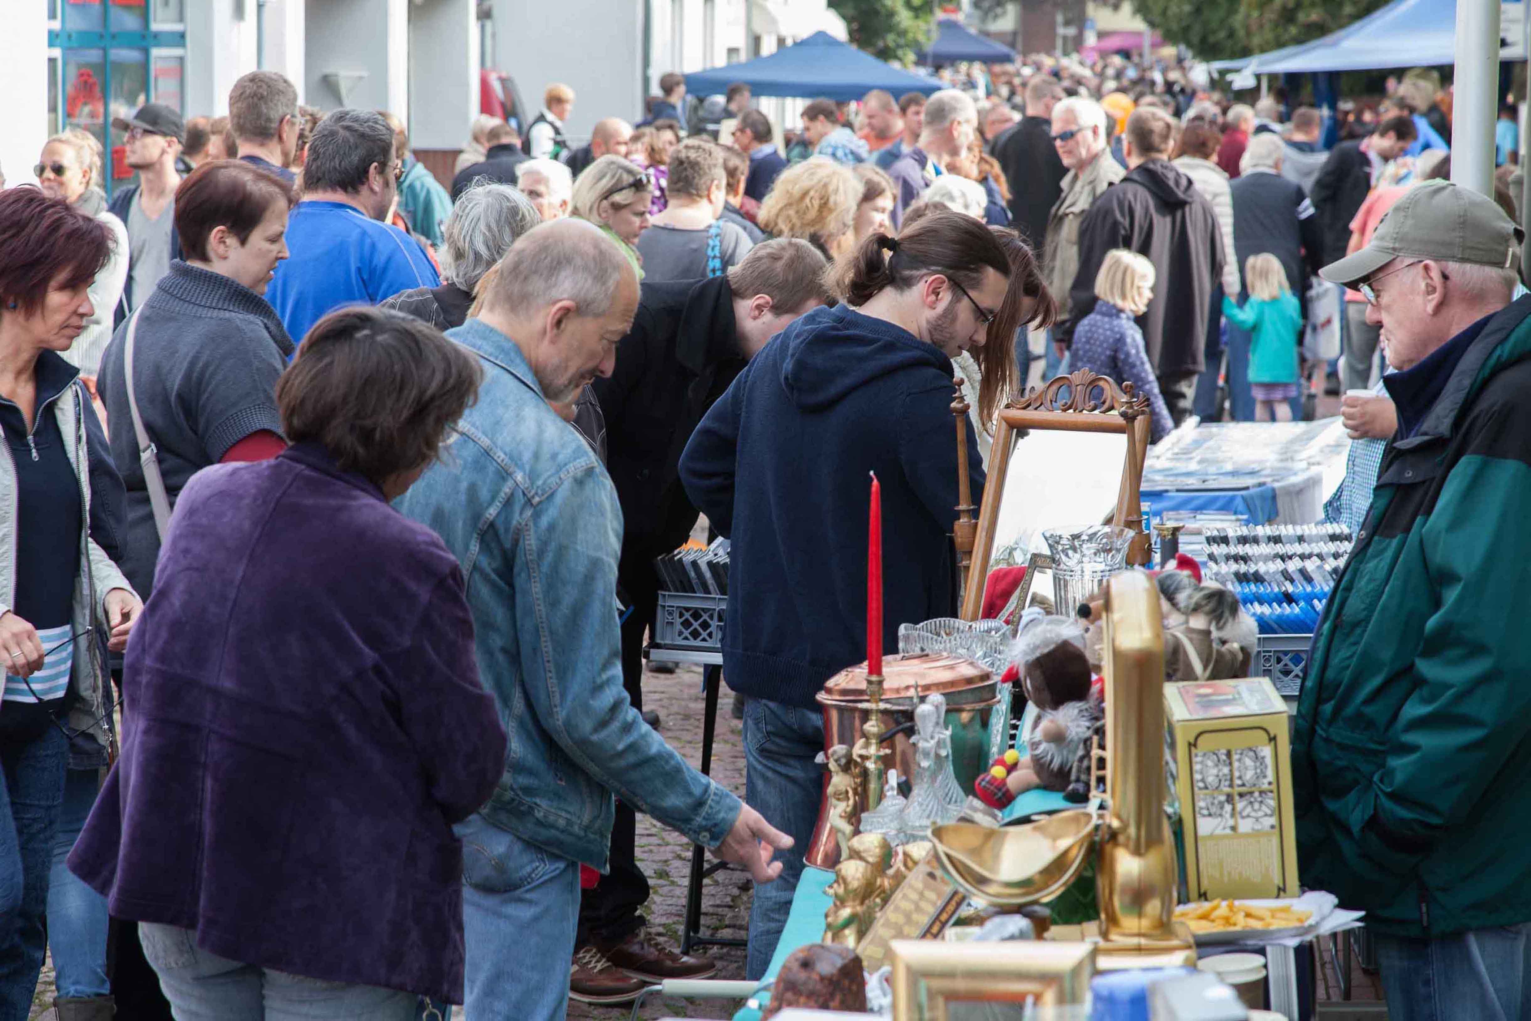
[[[119,651],[141,609],[96,542],[113,537],[121,481],[63,358],[96,312],[89,289],[112,245],[61,197],[0,193],[0,1018],[28,1016],[43,964],[70,738],[98,764],[112,741],[98,629]]]

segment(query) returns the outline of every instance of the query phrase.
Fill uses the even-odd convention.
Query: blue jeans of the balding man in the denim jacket
[[[579,863],[473,814],[462,840],[467,1021],[563,1021],[579,923]]]

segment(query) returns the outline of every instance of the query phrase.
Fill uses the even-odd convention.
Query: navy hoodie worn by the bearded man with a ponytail
[[[821,308],[758,354],[681,456],[692,502],[733,542],[723,672],[753,698],[814,707],[867,658],[867,511],[882,484],[883,651],[955,611],[952,363],[850,308]],[[983,468],[968,430],[972,499]]]

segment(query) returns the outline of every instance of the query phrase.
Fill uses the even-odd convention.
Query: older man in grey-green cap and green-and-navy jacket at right
[[[1303,885],[1366,911],[1395,1021],[1531,1016],[1531,297],[1520,230],[1445,182],[1323,269],[1366,295],[1398,432],[1318,634]]]

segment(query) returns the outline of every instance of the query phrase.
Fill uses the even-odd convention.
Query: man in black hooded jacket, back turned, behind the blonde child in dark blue
[[[1170,416],[1179,426],[1191,413],[1196,378],[1205,364],[1206,309],[1229,256],[1211,204],[1167,159],[1174,133],[1174,119],[1157,107],[1139,107],[1127,118],[1127,176],[1084,214],[1069,320],[1056,329],[1056,338],[1067,343],[1095,308],[1095,276],[1105,253],[1127,248],[1145,256],[1159,283],[1138,326]]]

